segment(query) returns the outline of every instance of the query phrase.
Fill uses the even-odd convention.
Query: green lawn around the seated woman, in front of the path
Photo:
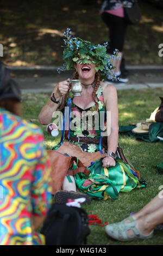
[[[43,105],[48,100],[49,93],[23,95],[22,117],[39,124],[37,117]],[[160,105],[159,96],[162,89],[122,90],[118,91],[119,125],[128,125],[145,121],[156,107]],[[60,135],[53,138],[46,132],[46,127],[40,125],[45,136],[47,149],[59,143]],[[95,200],[84,208],[87,214],[97,215],[102,223],[114,223],[123,220],[130,212],[139,211],[160,192],[163,185],[163,172],[156,169],[156,164],[163,161],[162,143],[143,142],[129,136],[120,135],[119,143],[124,153],[129,157],[134,167],[140,171],[141,176],[148,182],[146,188],[121,192],[117,200]],[[163,231],[156,230],[151,240],[118,242],[105,235],[104,227],[91,225],[91,234],[88,236],[88,245],[162,245]]]

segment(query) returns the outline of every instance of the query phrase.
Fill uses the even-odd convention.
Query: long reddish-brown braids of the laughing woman
[[[98,102],[96,101],[96,92],[97,92],[97,89],[98,89],[99,84],[100,84],[99,77],[100,77],[100,70],[98,70],[98,72],[96,73],[96,84],[95,84],[95,87],[94,87],[93,93],[92,93],[92,97],[93,97],[93,100],[95,101],[95,105],[96,105],[96,111],[97,111],[97,109],[98,109]],[[76,79],[78,79],[78,78],[79,78],[79,75],[78,75],[78,72],[76,71],[76,72],[74,72],[74,75],[73,75],[72,80],[76,80]],[[69,85],[69,88],[68,88],[67,93],[66,93],[65,96],[64,96],[64,99],[62,100],[62,103],[61,103],[60,108],[59,108],[60,110],[61,110],[62,108],[64,108],[64,106],[65,106],[65,103],[66,103],[66,100],[67,100],[67,97],[68,97],[68,94],[69,94],[69,90],[70,90],[70,89],[71,89],[71,83],[70,83],[70,85]]]

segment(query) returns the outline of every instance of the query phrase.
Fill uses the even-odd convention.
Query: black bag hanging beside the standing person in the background
[[[139,8],[139,4],[135,0],[135,3],[131,8],[124,7],[124,20],[128,24],[136,24],[139,23],[141,19],[141,12]]]

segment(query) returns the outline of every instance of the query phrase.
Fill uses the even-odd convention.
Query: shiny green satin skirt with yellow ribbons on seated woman
[[[76,168],[74,166],[74,168]],[[90,175],[78,173],[74,176],[79,191],[89,194],[96,199],[117,199],[120,191],[129,192],[134,188],[145,187],[147,183],[139,180],[137,174],[129,164],[121,159],[116,159],[116,166],[104,168],[102,159],[93,162]],[[89,185],[87,185],[89,184]]]

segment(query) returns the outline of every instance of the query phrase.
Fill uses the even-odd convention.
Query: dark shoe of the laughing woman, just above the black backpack
[[[68,199],[77,199],[77,198],[85,198],[83,204],[90,204],[91,197],[88,194],[78,193],[74,191],[57,191],[54,196],[54,202],[56,204],[66,204]]]

